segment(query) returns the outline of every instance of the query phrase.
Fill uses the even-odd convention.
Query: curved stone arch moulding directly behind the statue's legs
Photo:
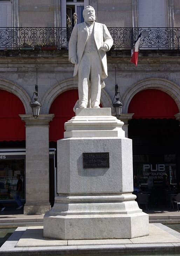
[[[49,113],[50,106],[56,97],[61,93],[72,89],[78,89],[78,79],[76,78],[69,78],[56,83],[44,95],[42,99],[41,113]],[[113,107],[111,106],[111,98],[104,88],[101,91],[101,104],[103,108],[111,108],[112,113],[114,113]]]

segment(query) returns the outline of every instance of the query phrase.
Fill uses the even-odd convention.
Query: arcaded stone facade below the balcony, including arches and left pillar
[[[124,107],[121,119],[127,134],[128,120],[132,114],[128,106],[132,97],[140,90],[159,89],[169,94],[180,109],[180,57],[178,50],[140,50],[138,67],[130,63],[130,50],[111,50],[108,55],[108,78],[102,90],[103,107],[111,107],[116,81],[123,97]],[[38,69],[38,91],[42,100],[41,114],[34,119],[29,106],[36,84]],[[65,90],[77,88],[73,78],[74,65],[68,61],[67,50],[39,51],[17,50],[0,52],[0,90],[8,90],[23,102],[26,114],[20,115],[26,122],[26,204],[24,214],[40,214],[50,209],[49,203],[49,121],[48,114],[53,100]],[[113,113],[113,112],[112,112]],[[22,114],[22,113],[19,113]],[[177,116],[177,119],[179,115]],[[33,151],[37,142],[36,150]],[[46,154],[44,153],[46,152]],[[33,157],[36,161],[33,161]],[[46,158],[47,161],[44,161]],[[40,160],[40,161],[39,161]],[[32,177],[42,183],[37,191],[32,186]],[[43,174],[43,181],[42,181]]]

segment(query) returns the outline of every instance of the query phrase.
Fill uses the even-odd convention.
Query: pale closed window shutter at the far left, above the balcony
[[[11,2],[1,3],[0,2],[0,27],[11,27]]]

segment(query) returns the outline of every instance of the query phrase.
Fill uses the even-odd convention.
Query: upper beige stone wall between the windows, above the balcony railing
[[[35,0],[19,0],[19,26],[60,25],[59,3],[57,0],[39,0],[38,3]],[[137,3],[138,0],[89,0],[89,4],[96,10],[97,21],[105,23],[108,27],[132,27],[133,22],[138,19]],[[173,4],[172,1],[166,0],[166,7],[167,24],[174,23],[174,27],[180,27],[180,1],[174,0]],[[169,23],[170,20],[172,22]],[[137,25],[136,22],[134,25]]]

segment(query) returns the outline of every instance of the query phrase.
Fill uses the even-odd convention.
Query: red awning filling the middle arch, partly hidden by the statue
[[[55,114],[49,127],[49,140],[57,141],[64,137],[64,123],[75,116],[74,105],[78,100],[78,90],[68,90],[56,97],[53,101],[49,114]],[[100,107],[102,105],[100,104]]]

